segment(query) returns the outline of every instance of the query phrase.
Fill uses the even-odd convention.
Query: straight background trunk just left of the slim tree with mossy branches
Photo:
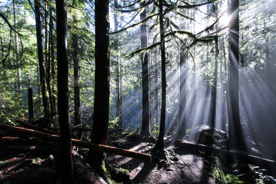
[[[141,6],[146,2],[143,1]],[[140,14],[140,21],[146,19],[146,8]],[[146,23],[143,23],[140,27],[141,30],[141,48],[148,46],[148,37]],[[150,135],[150,99],[148,95],[148,52],[141,54],[141,66],[142,66],[142,130],[141,135]]]

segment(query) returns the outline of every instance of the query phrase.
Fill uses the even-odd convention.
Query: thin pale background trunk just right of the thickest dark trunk
[[[115,31],[118,30],[118,12],[117,12],[117,6],[118,6],[118,2],[117,0],[114,1],[114,6],[115,6],[115,10],[114,10],[114,24],[115,24]],[[116,35],[116,46],[117,48],[119,48],[119,39],[118,36]],[[122,121],[122,117],[121,117],[121,90],[120,90],[120,75],[119,75],[119,56],[116,56],[116,91],[117,91],[117,100],[116,100],[116,117],[119,118],[118,119],[118,123],[120,125],[120,127],[123,126],[123,121]]]

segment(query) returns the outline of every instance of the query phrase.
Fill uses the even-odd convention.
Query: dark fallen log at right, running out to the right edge
[[[264,167],[273,174],[276,174],[276,162],[264,159],[259,156],[253,156],[250,154],[246,154],[244,152],[239,152],[238,150],[224,150],[224,149],[215,149],[213,147],[210,147],[208,145],[202,145],[198,143],[191,143],[188,141],[182,141],[182,140],[175,140],[175,147],[178,147],[182,150],[202,150],[207,152],[212,152],[215,154],[215,156],[218,156],[219,158],[226,158],[226,157],[234,157],[238,161],[242,161],[244,163],[248,163],[251,165],[257,165],[260,167]]]

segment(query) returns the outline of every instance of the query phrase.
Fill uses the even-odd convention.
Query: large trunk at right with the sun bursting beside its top
[[[239,119],[239,0],[230,1],[233,14],[229,32],[228,118],[230,148],[246,151],[246,144]]]

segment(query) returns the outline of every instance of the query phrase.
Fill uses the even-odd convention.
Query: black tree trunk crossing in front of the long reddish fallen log
[[[57,109],[60,127],[61,183],[73,183],[72,143],[69,116],[67,1],[56,1],[57,8]]]

